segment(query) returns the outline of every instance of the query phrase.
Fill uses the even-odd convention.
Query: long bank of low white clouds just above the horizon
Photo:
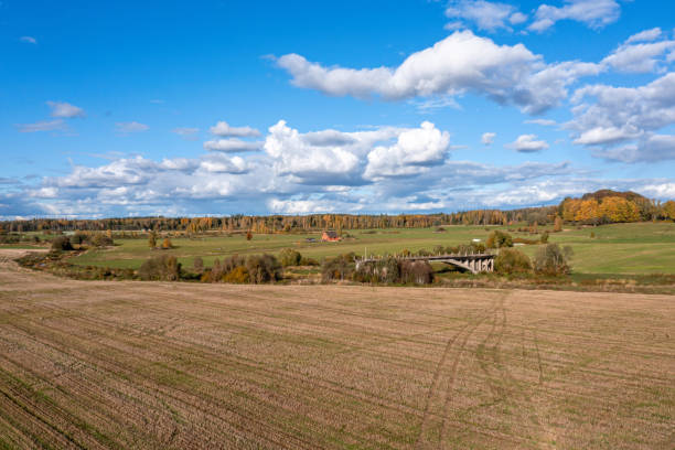
[[[673,137],[641,139],[643,146],[652,146],[653,154],[672,152]],[[534,135],[515,143],[527,151],[547,146]],[[618,151],[630,144],[598,157],[642,161],[644,149]],[[672,180],[612,181],[597,173],[591,179],[566,161],[453,161],[451,149],[449,133],[428,121],[411,128],[300,132],[281,120],[269,128],[264,152],[215,151],[160,161],[114,158],[100,165],[72,165],[66,175],[7,184],[4,192],[0,190],[0,216],[432,212],[557,203],[565,195],[608,186],[672,190]]]

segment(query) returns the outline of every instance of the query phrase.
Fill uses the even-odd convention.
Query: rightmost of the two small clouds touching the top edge
[[[565,0],[559,8],[540,4],[528,29],[542,32],[560,20],[575,20],[592,29],[601,29],[615,22],[620,14],[621,7],[615,0]]]

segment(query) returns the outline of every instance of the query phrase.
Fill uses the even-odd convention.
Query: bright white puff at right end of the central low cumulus
[[[448,152],[450,135],[425,121],[420,128],[403,131],[396,143],[375,147],[367,156],[364,178],[382,180],[424,173],[441,164]]]

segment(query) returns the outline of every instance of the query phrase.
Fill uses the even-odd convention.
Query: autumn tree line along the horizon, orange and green
[[[206,232],[303,233],[322,229],[425,228],[439,225],[511,225],[675,221],[675,202],[658,202],[633,192],[598,191],[559,205],[518,210],[471,210],[437,214],[229,215],[221,217],[111,217],[98,219],[32,218],[0,222],[0,234],[25,232]]]

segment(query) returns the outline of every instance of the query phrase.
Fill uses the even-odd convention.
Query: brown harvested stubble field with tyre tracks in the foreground
[[[84,282],[19,253],[0,250],[0,448],[675,442],[674,297]]]

